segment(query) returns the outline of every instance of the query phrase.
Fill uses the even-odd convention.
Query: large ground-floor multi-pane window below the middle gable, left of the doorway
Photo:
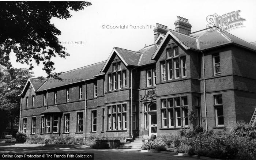
[[[126,104],[108,106],[108,130],[127,129]]]

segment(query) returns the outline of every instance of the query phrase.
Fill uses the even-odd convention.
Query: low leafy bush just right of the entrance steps
[[[163,140],[147,141],[142,145],[142,149],[166,151],[166,143]]]

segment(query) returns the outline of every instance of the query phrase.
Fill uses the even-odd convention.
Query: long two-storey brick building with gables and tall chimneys
[[[30,78],[20,94],[20,130],[147,137],[248,123],[256,107],[256,46],[217,27],[191,33],[179,16],[174,25],[157,23],[152,45],[138,52],[114,47],[108,60],[63,72],[61,81]]]

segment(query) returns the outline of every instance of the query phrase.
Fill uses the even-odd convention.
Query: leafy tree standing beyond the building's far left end
[[[27,79],[33,72],[26,68],[4,69],[0,77],[0,131],[11,122],[11,131],[14,121],[19,119],[20,99],[19,94],[25,87]]]

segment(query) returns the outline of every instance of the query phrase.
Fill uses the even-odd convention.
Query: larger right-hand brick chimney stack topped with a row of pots
[[[177,16],[177,20],[174,22],[175,30],[183,33],[183,34],[189,34],[191,33],[191,24],[188,23],[188,19]]]

